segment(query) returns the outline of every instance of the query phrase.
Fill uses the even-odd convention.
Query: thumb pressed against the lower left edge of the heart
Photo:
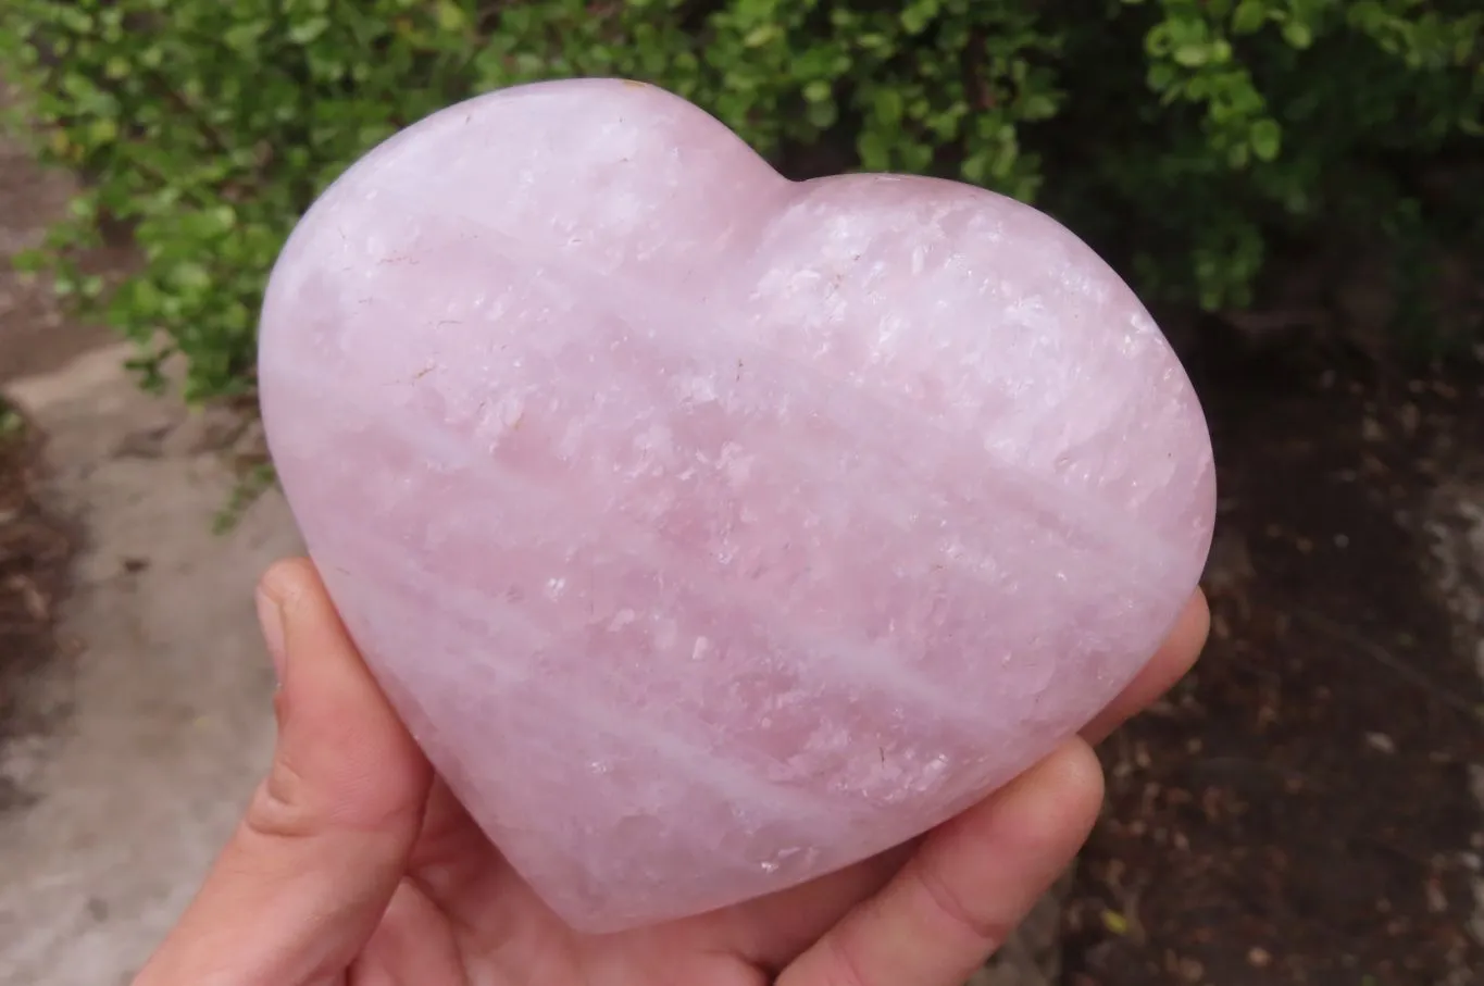
[[[135,986],[340,982],[417,839],[432,771],[309,561],[275,566],[258,615],[279,673],[267,778]]]

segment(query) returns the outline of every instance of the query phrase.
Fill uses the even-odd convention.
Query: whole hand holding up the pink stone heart
[[[1082,846],[1089,744],[1163,693],[1208,630],[1196,594],[1143,674],[1009,787],[910,845],[711,915],[565,928],[433,775],[313,566],[258,590],[279,744],[236,835],[134,986],[959,986]]]

